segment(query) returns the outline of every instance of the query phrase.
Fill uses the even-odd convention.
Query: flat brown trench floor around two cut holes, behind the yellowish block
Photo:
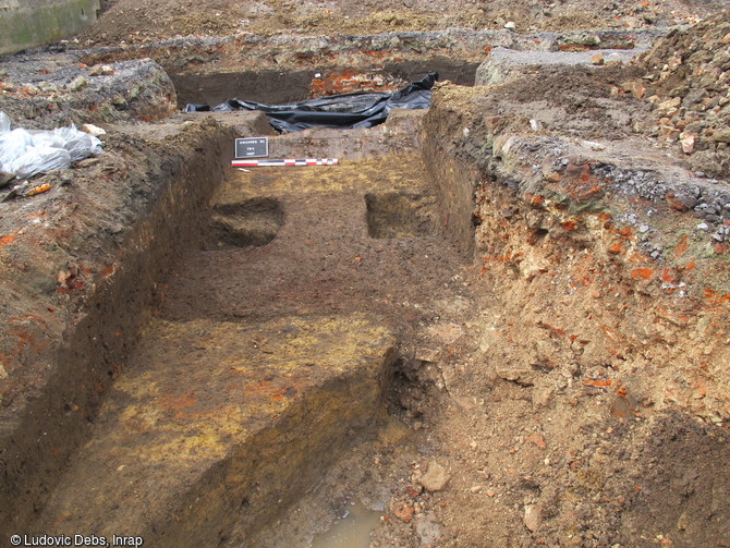
[[[389,215],[368,216],[367,196],[393,194],[404,199],[391,203]],[[214,211],[236,211],[255,197],[279,204],[276,238],[235,248],[214,220],[208,251],[188,253],[169,281],[166,317],[267,320],[368,310],[401,316],[405,327],[433,314],[425,297],[448,291],[458,252],[439,235],[436,199],[417,156],[236,171],[211,204]],[[240,222],[255,223],[260,215],[250,211]],[[388,238],[369,236],[380,230]]]

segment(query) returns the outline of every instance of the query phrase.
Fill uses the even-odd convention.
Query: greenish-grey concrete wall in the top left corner
[[[96,21],[99,0],[0,0],[0,53],[42,46]]]

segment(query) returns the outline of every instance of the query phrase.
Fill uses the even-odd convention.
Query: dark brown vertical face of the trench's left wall
[[[173,259],[203,232],[199,211],[222,180],[233,138],[232,129],[207,120],[166,141],[163,149],[129,143],[143,150],[145,158],[138,160],[144,168],[137,172],[142,179],[125,166],[99,175],[93,192],[129,193],[134,206],[120,208],[129,208],[139,220],[123,229],[121,244],[109,238],[119,229],[107,226],[114,219],[104,211],[87,227],[92,234],[76,234],[93,242],[83,244],[85,267],[73,287],[57,289],[70,294],[69,308],[75,312],[61,340],[41,346],[34,358],[47,364],[42,385],[28,394],[27,403],[19,404],[13,421],[3,423],[0,431],[0,500],[12,501],[0,506],[0,538],[28,531],[59,471],[89,435],[106,390],[165,292],[160,284]],[[100,254],[95,256],[90,247],[99,247]]]

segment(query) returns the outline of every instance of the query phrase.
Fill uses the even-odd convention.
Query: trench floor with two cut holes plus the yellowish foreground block
[[[245,541],[372,429],[454,283],[415,156],[231,169],[210,206],[37,531]]]

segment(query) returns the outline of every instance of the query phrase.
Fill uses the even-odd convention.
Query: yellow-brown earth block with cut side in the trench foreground
[[[34,531],[243,541],[374,419],[394,345],[364,316],[154,321]]]

